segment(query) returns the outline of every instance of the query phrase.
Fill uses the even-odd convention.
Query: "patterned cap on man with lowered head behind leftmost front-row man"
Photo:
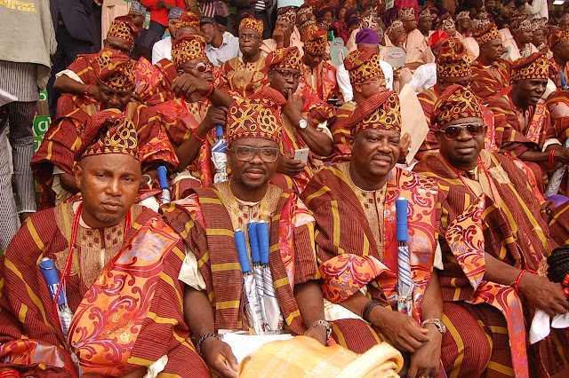
[[[97,80],[113,91],[132,91],[134,89],[134,60],[121,51],[103,49],[94,59]]]

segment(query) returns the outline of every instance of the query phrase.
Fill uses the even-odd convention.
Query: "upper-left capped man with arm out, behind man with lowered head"
[[[97,87],[96,67],[104,51],[120,51],[130,55],[134,42],[139,37],[139,30],[129,16],[117,17],[108,28],[107,38],[103,41],[103,49],[94,54],[78,55],[69,67],[56,73],[57,79],[53,89],[61,96],[55,117],[71,113],[76,108],[91,105],[100,101]]]

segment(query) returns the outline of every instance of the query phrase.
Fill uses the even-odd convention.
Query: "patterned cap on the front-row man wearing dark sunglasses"
[[[469,117],[482,118],[482,107],[468,88],[453,84],[435,102],[430,122],[437,124],[438,130],[448,122]]]

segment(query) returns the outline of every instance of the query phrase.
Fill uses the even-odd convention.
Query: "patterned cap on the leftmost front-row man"
[[[84,123],[75,161],[102,154],[125,154],[140,161],[136,127],[118,109],[102,110]]]

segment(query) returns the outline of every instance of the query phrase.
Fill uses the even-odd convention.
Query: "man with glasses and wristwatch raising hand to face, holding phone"
[[[302,79],[299,49],[276,49],[268,55],[266,64],[269,67],[270,87],[286,98],[280,141],[282,156],[278,160],[277,171],[292,177],[293,188],[301,193],[310,177],[322,169],[324,164],[321,159],[333,153],[332,134],[327,127],[327,120],[333,118],[335,111],[333,106],[309,91],[304,91],[301,95],[294,94]],[[302,148],[310,150],[307,162],[293,158],[294,152]]]

